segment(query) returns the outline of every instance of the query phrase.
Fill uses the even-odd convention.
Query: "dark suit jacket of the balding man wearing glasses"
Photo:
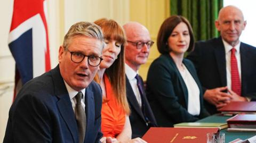
[[[141,83],[143,83],[141,77],[140,81]],[[131,108],[131,114],[129,116],[129,119],[132,126],[132,138],[142,137],[150,127],[156,127],[155,116],[149,106],[148,100],[145,95],[145,91],[142,92],[142,108],[140,108],[139,103],[130,85],[129,79],[126,77],[126,96]],[[146,124],[146,120],[143,113],[145,113],[145,116],[150,121],[148,125]]]

